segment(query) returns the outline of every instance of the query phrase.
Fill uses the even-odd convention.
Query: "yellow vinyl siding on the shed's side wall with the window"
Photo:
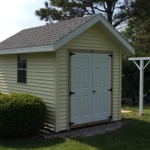
[[[27,54],[27,84],[17,83],[17,55],[0,56],[0,92],[29,93],[41,97],[47,106],[46,122],[54,130],[55,53]]]

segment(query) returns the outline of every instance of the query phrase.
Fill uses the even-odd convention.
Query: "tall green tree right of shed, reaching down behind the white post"
[[[150,56],[150,1],[136,0],[131,5],[132,17],[122,35],[133,45],[136,54],[129,57]],[[146,64],[147,62],[145,62]],[[122,94],[132,96],[139,91],[139,70],[128,56],[123,57],[122,63]],[[144,71],[144,92],[150,95],[150,66]]]

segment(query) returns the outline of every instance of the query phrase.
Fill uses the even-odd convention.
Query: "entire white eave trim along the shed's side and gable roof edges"
[[[109,37],[110,40],[112,40],[112,42],[115,43],[124,52],[124,54],[130,55],[135,53],[134,48],[122,37],[122,35],[102,15],[99,14],[54,44],[4,49],[0,50],[0,55],[56,51],[57,49],[74,39],[76,36],[84,32],[94,24],[97,24],[100,30],[102,30],[102,32],[107,37]]]

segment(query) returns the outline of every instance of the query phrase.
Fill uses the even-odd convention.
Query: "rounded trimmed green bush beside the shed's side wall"
[[[0,95],[0,137],[27,137],[43,128],[44,102],[29,94]]]

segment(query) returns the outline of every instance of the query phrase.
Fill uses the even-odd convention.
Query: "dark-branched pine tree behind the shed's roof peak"
[[[40,20],[46,22],[66,20],[85,15],[103,14],[117,27],[129,19],[130,5],[133,0],[49,0],[45,8],[36,10]]]

